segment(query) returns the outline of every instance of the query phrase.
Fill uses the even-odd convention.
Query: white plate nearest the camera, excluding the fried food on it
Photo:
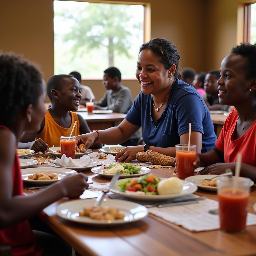
[[[73,200],[60,204],[57,207],[57,215],[66,220],[93,226],[121,225],[142,220],[148,216],[146,207],[134,202],[115,199],[103,199],[101,206],[118,208],[120,212],[125,215],[122,220],[94,220],[89,217],[79,216],[79,211],[82,211],[84,207],[93,206],[95,200],[96,199]]]

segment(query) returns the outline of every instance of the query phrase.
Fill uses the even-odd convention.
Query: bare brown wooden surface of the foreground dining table
[[[46,154],[45,157],[47,156]],[[35,165],[31,168],[37,167],[49,167],[49,165]],[[94,184],[110,181],[92,173],[90,169],[83,173],[91,178]],[[161,178],[174,177],[174,167],[153,168],[151,173]],[[31,184],[24,183],[24,193],[38,192],[38,190],[28,190],[28,186]],[[96,198],[99,193],[99,191],[86,190],[80,198]],[[218,201],[217,193],[214,191],[198,189],[195,194]],[[57,206],[68,200],[63,198],[51,204],[39,214],[39,217],[80,255],[256,255],[256,225],[247,226],[246,232],[239,234],[230,234],[221,230],[191,232],[149,214],[143,220],[121,226],[86,226],[64,220],[56,215]],[[254,214],[255,202],[254,184],[249,197],[249,212]]]

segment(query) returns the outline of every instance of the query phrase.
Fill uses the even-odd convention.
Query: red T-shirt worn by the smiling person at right
[[[233,140],[238,118],[237,110],[229,114],[215,145],[224,152],[225,163],[236,162],[241,153],[242,163],[256,167],[256,120],[244,135]]]

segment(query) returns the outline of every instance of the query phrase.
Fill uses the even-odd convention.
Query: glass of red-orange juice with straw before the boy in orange
[[[72,159],[76,158],[76,136],[72,136],[76,124],[77,121],[75,121],[69,136],[60,137],[61,155],[65,154],[67,157],[71,157]]]

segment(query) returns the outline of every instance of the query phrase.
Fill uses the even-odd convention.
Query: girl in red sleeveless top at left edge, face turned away
[[[2,54],[0,95],[4,96],[0,102],[0,246],[10,245],[13,256],[71,255],[72,250],[62,248],[47,251],[47,244],[51,243],[37,241],[27,219],[62,197],[79,197],[88,188],[88,178],[80,173],[36,194],[23,196],[16,148],[24,131],[40,129],[46,113],[45,83],[34,65],[18,56]],[[54,244],[55,240],[51,241]],[[38,244],[45,244],[46,250]]]

